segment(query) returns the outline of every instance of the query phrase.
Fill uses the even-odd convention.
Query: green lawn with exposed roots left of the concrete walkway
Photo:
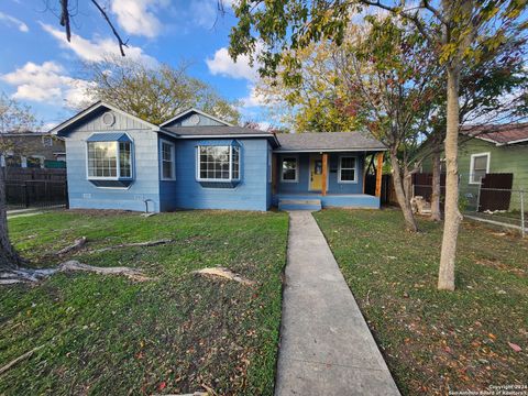
[[[57,274],[0,290],[0,366],[37,345],[0,375],[0,394],[272,395],[280,322],[287,216],[188,211],[62,211],[10,220],[11,239],[31,265],[88,238],[88,250],[172,238],[172,244],[87,250],[65,257],[143,270],[156,280]],[[256,282],[191,274],[226,266]]]

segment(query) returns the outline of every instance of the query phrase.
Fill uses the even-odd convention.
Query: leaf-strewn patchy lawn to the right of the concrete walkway
[[[315,217],[403,394],[526,386],[528,241],[464,222],[457,290],[439,292],[440,224],[410,234],[391,209]]]

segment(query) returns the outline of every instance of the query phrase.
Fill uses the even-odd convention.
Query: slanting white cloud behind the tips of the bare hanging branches
[[[54,36],[63,48],[72,50],[77,56],[84,61],[101,62],[108,55],[121,56],[118,42],[113,38],[95,38],[94,41],[84,38],[77,34],[72,34],[72,42],[68,43],[63,31],[52,25],[41,23],[42,28]],[[127,57],[132,59],[141,59],[147,64],[155,64],[156,61],[143,53],[143,50],[136,46],[124,48]]]

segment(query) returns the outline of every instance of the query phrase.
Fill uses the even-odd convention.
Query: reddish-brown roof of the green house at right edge
[[[495,145],[508,145],[528,142],[528,122],[512,124],[491,125],[463,125],[460,133],[495,143]]]

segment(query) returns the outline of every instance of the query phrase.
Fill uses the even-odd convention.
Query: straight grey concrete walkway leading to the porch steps
[[[316,220],[289,217],[275,395],[399,395]]]

